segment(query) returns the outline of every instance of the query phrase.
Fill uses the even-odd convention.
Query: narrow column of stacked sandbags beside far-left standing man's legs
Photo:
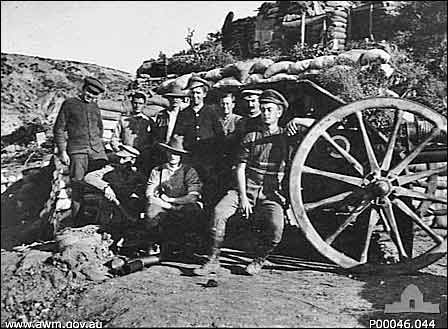
[[[39,217],[50,224],[55,233],[61,222],[71,215],[71,187],[69,167],[57,156],[53,156],[54,171],[50,197],[41,210]]]

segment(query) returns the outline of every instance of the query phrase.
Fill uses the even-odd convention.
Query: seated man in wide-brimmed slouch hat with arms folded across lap
[[[148,178],[146,197],[146,225],[159,234],[162,253],[167,255],[170,242],[182,243],[186,231],[201,233],[202,183],[196,170],[182,163],[188,155],[183,138],[175,135],[169,144],[159,143],[167,152],[168,162],[155,167]]]

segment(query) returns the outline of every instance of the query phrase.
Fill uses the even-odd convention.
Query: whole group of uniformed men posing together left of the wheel
[[[54,125],[57,154],[70,167],[73,215],[82,198],[78,183],[117,203],[143,196],[139,220],[162,249],[168,227],[207,236],[208,261],[196,275],[219,270],[231,217],[255,218],[262,236],[246,272],[257,274],[282,239],[291,140],[308,129],[299,118],[279,126],[287,99],[274,89],[223,90],[217,111],[205,102],[208,82],[193,76],[185,89],[173,86],[164,94],[170,105],[156,117],[145,115],[147,96],[135,92],[133,112],[120,118],[105,146],[96,105],[104,90],[101,81],[87,77],[79,97],[63,103]],[[242,116],[235,113],[237,97],[246,105],[238,111]],[[117,175],[134,188],[115,185]]]

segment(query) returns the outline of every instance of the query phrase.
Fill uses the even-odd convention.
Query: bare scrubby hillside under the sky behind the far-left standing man
[[[55,94],[75,95],[88,75],[104,82],[108,99],[122,98],[132,80],[127,72],[95,64],[2,53],[1,136],[45,117],[46,102]]]

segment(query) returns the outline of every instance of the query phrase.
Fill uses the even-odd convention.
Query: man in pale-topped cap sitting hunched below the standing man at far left
[[[119,163],[106,164],[84,177],[84,182],[101,190],[107,200],[134,210],[135,218],[140,212],[139,204],[142,203],[138,199],[143,200],[145,188],[145,176],[134,166],[139,154],[132,146],[121,145],[120,151],[116,153]]]

